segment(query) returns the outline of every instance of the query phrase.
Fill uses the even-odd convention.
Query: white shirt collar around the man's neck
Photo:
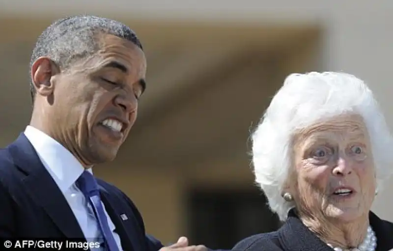
[[[25,135],[64,194],[82,175],[84,167],[70,151],[44,132],[27,126]],[[87,171],[91,172],[91,168]]]

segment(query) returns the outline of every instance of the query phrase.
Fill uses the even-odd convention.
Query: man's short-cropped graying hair
[[[96,35],[100,32],[129,40],[143,50],[135,32],[118,21],[87,15],[65,17],[55,21],[38,37],[31,55],[30,69],[41,56],[51,58],[61,70],[66,69],[71,63],[99,49]],[[35,88],[31,79],[30,94],[34,101]]]

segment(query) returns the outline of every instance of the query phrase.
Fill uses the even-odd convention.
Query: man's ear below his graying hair
[[[52,76],[59,73],[59,70],[49,57],[40,57],[31,66],[31,79],[36,93],[41,96],[50,96],[54,91]]]

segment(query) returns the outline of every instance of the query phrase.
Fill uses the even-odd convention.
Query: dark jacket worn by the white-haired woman
[[[377,237],[376,251],[393,249],[393,224],[379,219],[372,212],[369,214],[369,220]],[[279,230],[248,237],[236,244],[232,251],[333,251],[333,249],[304,226],[292,209]]]

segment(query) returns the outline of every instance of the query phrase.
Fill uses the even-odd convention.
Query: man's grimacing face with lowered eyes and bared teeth
[[[86,164],[116,156],[137,118],[146,74],[135,44],[109,34],[98,39],[97,53],[54,79],[51,127]]]

